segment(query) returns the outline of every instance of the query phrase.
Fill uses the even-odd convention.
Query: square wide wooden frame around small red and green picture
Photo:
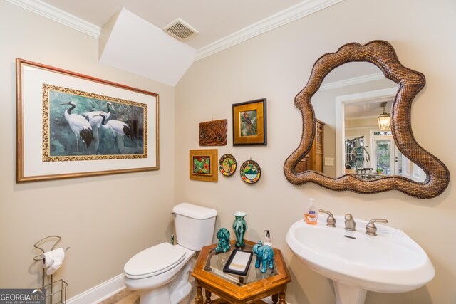
[[[217,149],[190,150],[190,179],[218,182]]]

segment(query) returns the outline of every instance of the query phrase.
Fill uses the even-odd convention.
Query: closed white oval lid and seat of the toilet
[[[185,258],[185,250],[179,245],[160,243],[130,258],[123,267],[127,278],[148,278],[164,273]]]

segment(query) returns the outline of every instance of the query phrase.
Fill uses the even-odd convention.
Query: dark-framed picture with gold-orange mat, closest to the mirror
[[[233,105],[233,145],[267,145],[266,98]]]

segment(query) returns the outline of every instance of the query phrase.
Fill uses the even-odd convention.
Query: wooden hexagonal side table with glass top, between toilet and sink
[[[245,241],[244,251],[252,251],[254,242]],[[284,257],[279,249],[274,248],[274,269],[268,268],[266,273],[261,273],[261,268],[255,268],[255,256],[250,263],[249,272],[239,283],[239,276],[224,273],[223,268],[228,261],[231,251],[235,248],[234,241],[231,243],[231,250],[227,253],[215,254],[217,244],[205,246],[199,253],[192,276],[197,283],[196,304],[218,304],[218,303],[265,303],[261,299],[272,296],[274,303],[286,304],[286,284],[291,282],[288,270],[286,269]],[[202,295],[202,288],[205,291],[205,301]],[[212,301],[214,293],[220,298]],[[277,302],[279,301],[279,302]]]

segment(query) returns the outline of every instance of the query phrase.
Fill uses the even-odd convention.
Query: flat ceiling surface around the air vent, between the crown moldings
[[[242,28],[303,2],[302,0],[43,1],[99,27],[103,27],[122,8],[159,28],[180,18],[199,31],[199,34],[185,41],[195,49],[214,43]]]

